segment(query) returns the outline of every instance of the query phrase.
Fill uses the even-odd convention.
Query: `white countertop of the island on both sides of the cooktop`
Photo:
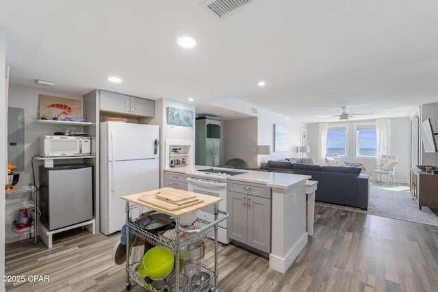
[[[190,170],[205,170],[211,168],[211,166],[203,165],[189,165],[182,168],[166,168],[164,171],[168,172],[180,172],[185,174]],[[230,170],[233,170],[232,168]],[[228,180],[230,181],[244,181],[247,183],[263,183],[268,187],[275,187],[279,189],[287,189],[296,183],[301,181],[307,181],[311,176],[301,175],[301,174],[286,174],[282,172],[261,172],[257,170],[247,170],[248,173],[237,174],[235,176],[230,176]]]

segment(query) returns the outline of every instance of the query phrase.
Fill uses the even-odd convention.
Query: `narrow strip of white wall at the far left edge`
[[[0,68],[5,70],[6,67],[6,29],[5,27],[0,25]],[[6,145],[6,109],[7,109],[7,101],[6,101],[6,88],[5,82],[2,78],[0,81],[0,145]],[[0,147],[0,185],[5,185],[6,180],[6,147]],[[5,189],[1,188],[0,194],[0,210],[5,209]],[[4,212],[0,212],[0,275],[5,274],[5,215]],[[0,291],[5,291],[5,284],[0,282]]]

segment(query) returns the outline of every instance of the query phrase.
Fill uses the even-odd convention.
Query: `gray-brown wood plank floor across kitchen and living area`
[[[126,291],[125,266],[112,261],[120,235],[73,230],[5,248],[7,275],[48,275],[50,282],[6,283],[6,291]],[[213,263],[207,241],[206,263]],[[285,274],[234,245],[219,246],[219,282],[229,291],[438,291],[438,227],[315,207],[313,237]],[[131,291],[144,291],[132,282]]]

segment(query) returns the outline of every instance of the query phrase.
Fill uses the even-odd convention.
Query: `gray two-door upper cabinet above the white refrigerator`
[[[101,90],[101,111],[130,116],[155,116],[155,102],[150,99]]]

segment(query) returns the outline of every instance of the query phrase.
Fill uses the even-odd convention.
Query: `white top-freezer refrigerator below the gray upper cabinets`
[[[110,235],[125,224],[120,196],[159,187],[158,126],[101,122],[100,230]]]

